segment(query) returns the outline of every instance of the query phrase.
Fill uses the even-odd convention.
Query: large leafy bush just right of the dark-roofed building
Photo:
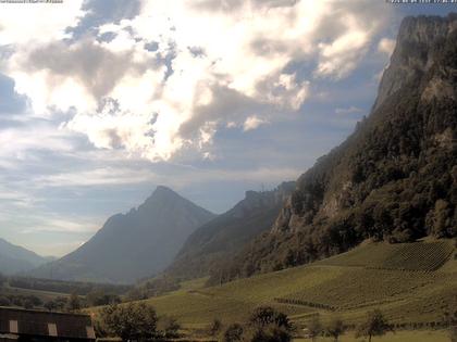
[[[147,341],[159,337],[156,311],[144,303],[107,306],[101,311],[101,320],[110,334],[123,341]]]

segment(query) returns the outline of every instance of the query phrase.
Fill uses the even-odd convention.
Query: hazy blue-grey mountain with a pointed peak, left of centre
[[[186,238],[214,214],[158,187],[138,208],[111,216],[84,245],[30,276],[129,283],[161,271]]]

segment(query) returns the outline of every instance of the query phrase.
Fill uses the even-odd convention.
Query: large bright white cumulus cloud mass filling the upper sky
[[[151,161],[208,155],[220,127],[246,131],[298,111],[313,77],[349,75],[383,26],[363,0],[135,1],[110,21],[96,20],[100,1],[65,3],[62,20],[27,23],[52,23],[38,42],[2,23],[3,72],[36,115],[65,113],[62,129]],[[292,67],[304,61],[312,74]]]

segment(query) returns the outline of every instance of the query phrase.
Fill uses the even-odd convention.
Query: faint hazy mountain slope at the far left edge
[[[0,239],[0,273],[13,275],[27,271],[47,263],[47,258],[22,246]]]

